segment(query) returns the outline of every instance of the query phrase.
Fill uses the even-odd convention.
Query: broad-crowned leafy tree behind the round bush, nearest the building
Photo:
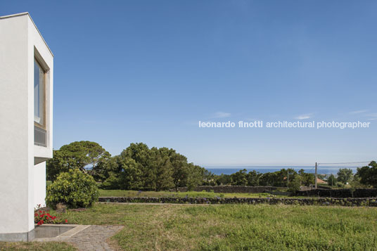
[[[101,165],[110,158],[110,153],[96,142],[75,141],[53,151],[53,158],[46,163],[47,179],[53,181],[61,172],[80,169],[101,178]]]

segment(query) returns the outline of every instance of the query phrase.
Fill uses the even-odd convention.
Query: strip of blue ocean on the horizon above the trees
[[[212,174],[234,174],[235,172],[238,172],[239,170],[246,169],[248,172],[250,171],[257,171],[260,173],[266,173],[266,172],[276,172],[280,169],[287,169],[292,168],[295,169],[296,172],[300,169],[304,169],[307,173],[313,173],[315,172],[315,167],[289,167],[289,166],[276,166],[276,167],[205,167],[208,171],[212,172]],[[352,169],[352,172],[355,174],[357,171],[357,167],[325,167],[325,166],[319,166],[317,168],[318,174],[336,174],[340,168],[349,168]]]

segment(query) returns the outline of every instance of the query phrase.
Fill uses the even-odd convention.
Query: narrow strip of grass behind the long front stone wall
[[[184,198],[266,198],[270,193],[212,193],[212,192],[169,192],[169,191],[128,191],[128,190],[99,190],[100,197],[177,197]],[[287,198],[284,195],[274,195],[276,198]],[[298,197],[296,197],[298,198]]]

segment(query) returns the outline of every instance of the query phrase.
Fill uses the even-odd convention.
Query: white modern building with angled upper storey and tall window
[[[29,13],[0,17],[0,240],[32,240],[52,157],[53,53]]]

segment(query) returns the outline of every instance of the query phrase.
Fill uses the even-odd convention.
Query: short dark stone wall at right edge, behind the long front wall
[[[373,198],[377,197],[377,189],[313,189],[297,191],[297,196],[319,196],[332,198]]]

